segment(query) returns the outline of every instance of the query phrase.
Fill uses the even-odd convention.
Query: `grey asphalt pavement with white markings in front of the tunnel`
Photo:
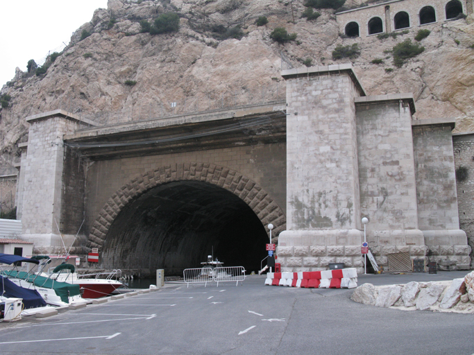
[[[360,275],[359,284],[463,277]],[[474,353],[474,315],[398,311],[350,301],[350,290],[264,286],[186,288],[0,323],[0,354],[459,354]],[[28,343],[21,343],[28,342]]]

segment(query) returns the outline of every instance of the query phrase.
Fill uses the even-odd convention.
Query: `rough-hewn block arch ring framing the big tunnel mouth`
[[[103,246],[112,222],[129,202],[160,184],[179,181],[208,182],[235,194],[255,212],[265,229],[269,223],[275,226],[273,239],[286,229],[280,206],[256,182],[237,171],[208,163],[169,164],[133,178],[110,197],[90,230],[90,248]]]

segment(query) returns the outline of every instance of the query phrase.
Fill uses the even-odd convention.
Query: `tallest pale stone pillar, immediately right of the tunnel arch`
[[[365,96],[350,64],[291,69],[287,80],[287,230],[282,270],[362,266],[354,100]],[[356,257],[357,261],[354,261]]]

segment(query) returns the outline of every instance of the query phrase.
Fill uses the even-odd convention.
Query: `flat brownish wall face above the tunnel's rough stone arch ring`
[[[86,234],[90,232],[105,203],[124,184],[128,184],[138,175],[157,168],[190,162],[216,164],[238,171],[259,184],[285,211],[285,143],[133,157],[94,162],[89,166],[86,187]]]

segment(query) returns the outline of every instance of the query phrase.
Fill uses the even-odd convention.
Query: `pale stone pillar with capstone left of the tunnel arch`
[[[63,252],[58,226],[61,228],[63,168],[65,146],[63,136],[71,134],[81,124],[89,121],[78,116],[55,110],[29,116],[28,148],[22,155],[23,179],[22,239],[35,243],[35,248],[46,248],[42,252]],[[77,187],[76,187],[77,188]],[[57,223],[57,224],[56,224]],[[62,232],[62,230],[61,230]]]

